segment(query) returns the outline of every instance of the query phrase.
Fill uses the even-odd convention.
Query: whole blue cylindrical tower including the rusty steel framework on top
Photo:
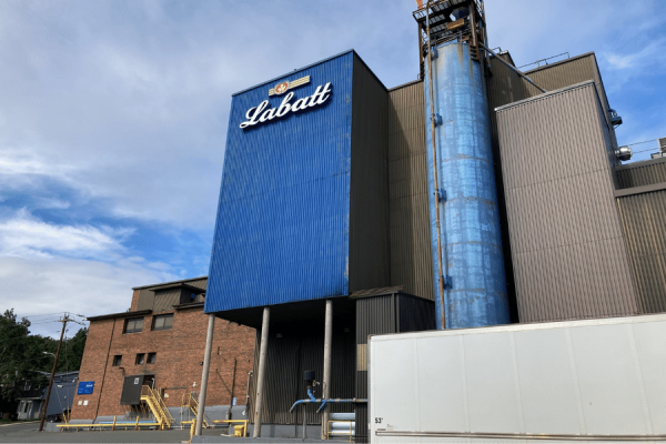
[[[485,85],[483,1],[414,13],[425,78],[437,329],[509,322]]]

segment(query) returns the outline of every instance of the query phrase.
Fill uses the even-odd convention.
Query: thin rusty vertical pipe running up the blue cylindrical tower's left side
[[[432,52],[434,50],[433,42],[430,34],[430,4],[432,0],[427,0],[425,6],[425,26],[427,33],[427,80],[430,84],[430,102],[431,102],[431,141],[433,144],[433,180],[435,188],[435,221],[437,226],[437,279],[440,281],[440,317],[442,322],[442,330],[446,330],[446,303],[444,301],[444,273],[442,272],[442,240],[440,239],[440,184],[437,180],[437,145],[435,140],[435,93],[433,90],[433,59]],[[423,50],[423,49],[422,49]]]

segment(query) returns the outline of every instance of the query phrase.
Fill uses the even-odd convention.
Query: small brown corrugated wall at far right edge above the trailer
[[[619,198],[617,205],[640,311],[666,312],[666,191]]]

